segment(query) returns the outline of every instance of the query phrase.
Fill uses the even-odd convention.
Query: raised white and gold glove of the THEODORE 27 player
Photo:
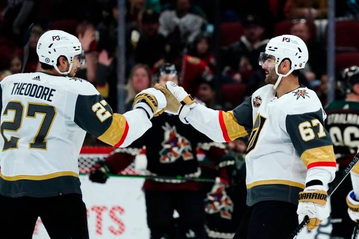
[[[165,95],[155,88],[148,88],[136,95],[133,108],[142,108],[146,111],[149,119],[159,116],[165,111],[167,105]]]

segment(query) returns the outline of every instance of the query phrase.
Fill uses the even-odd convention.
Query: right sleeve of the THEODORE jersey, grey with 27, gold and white
[[[144,134],[152,123],[142,109],[123,115],[113,113],[96,88],[89,82],[79,94],[68,98],[73,105],[73,121],[85,131],[115,147],[126,147]],[[75,104],[73,104],[75,102]]]

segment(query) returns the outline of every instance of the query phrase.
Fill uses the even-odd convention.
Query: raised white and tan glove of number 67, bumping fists
[[[166,86],[156,84],[155,88],[162,91],[166,96],[166,112],[179,115],[179,119],[183,123],[189,123],[185,118],[188,116],[190,109],[196,105],[194,98],[185,92],[183,87],[171,81],[166,82]]]

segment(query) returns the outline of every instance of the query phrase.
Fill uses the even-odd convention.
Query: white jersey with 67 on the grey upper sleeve
[[[253,93],[231,112],[195,106],[186,119],[214,141],[251,132],[246,155],[247,204],[265,200],[298,204],[305,184],[335,177],[336,161],[316,93],[301,86],[279,99],[273,85]]]

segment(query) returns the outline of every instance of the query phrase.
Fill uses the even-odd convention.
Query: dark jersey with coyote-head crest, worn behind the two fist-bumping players
[[[120,172],[124,159],[131,162],[140,150],[146,147],[147,170],[159,176],[199,177],[196,148],[200,148],[209,160],[215,161],[225,155],[225,145],[215,143],[207,136],[195,130],[191,125],[182,123],[178,116],[167,113],[152,120],[153,126],[139,139],[125,149],[115,149],[106,159],[114,170]],[[194,182],[177,183],[155,182],[147,180],[145,190],[166,189],[199,189]]]

